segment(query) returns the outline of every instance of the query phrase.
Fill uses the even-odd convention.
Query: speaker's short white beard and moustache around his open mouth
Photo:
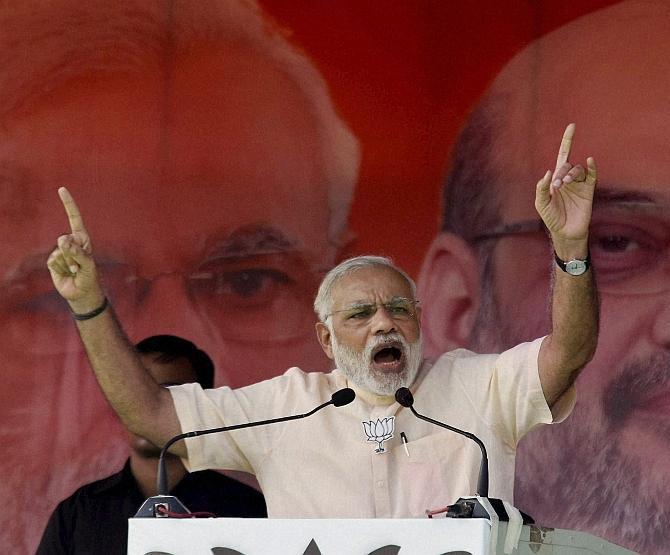
[[[377,395],[395,395],[400,387],[409,387],[414,383],[421,361],[423,348],[421,338],[408,343],[399,333],[389,333],[370,338],[362,352],[340,345],[335,333],[332,335],[332,348],[335,364],[354,384]],[[400,372],[379,372],[372,366],[372,351],[383,343],[397,341],[402,345],[405,365]]]

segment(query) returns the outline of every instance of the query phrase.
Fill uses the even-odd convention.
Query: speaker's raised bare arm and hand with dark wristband
[[[54,286],[70,305],[88,359],[113,409],[129,430],[162,445],[181,432],[171,395],[144,369],[107,304],[74,199],[64,187],[58,194],[70,233],[58,238],[47,262]],[[186,455],[183,442],[172,451]]]

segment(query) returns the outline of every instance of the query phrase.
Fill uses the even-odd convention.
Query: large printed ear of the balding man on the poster
[[[467,346],[480,304],[480,268],[474,250],[453,233],[440,233],[418,280],[426,354]]]

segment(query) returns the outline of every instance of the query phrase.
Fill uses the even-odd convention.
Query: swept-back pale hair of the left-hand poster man
[[[254,0],[22,0],[0,6],[0,117],[91,75],[172,78],[175,57],[204,45],[244,48],[272,61],[304,96],[328,186],[329,237],[347,229],[358,179],[358,141],[340,119],[325,80]],[[234,78],[234,77],[233,77]]]

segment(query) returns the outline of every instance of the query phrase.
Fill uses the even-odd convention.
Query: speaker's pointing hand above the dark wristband
[[[47,266],[56,290],[74,312],[83,314],[98,308],[105,294],[79,208],[65,187],[58,189],[58,195],[70,222],[70,233],[58,238],[58,246],[49,255]]]

